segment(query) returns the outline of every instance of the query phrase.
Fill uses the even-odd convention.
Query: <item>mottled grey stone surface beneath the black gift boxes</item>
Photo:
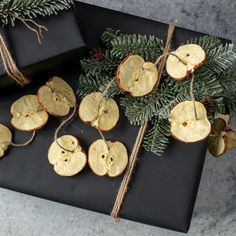
[[[83,0],[83,2],[227,37],[236,42],[235,0]],[[235,122],[234,122],[235,123]],[[236,128],[236,127],[235,127]],[[207,155],[188,235],[236,235],[236,152]],[[0,189],[0,236],[177,236],[179,233]]]

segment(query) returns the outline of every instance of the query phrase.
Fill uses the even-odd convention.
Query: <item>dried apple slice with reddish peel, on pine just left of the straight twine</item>
[[[117,83],[120,89],[133,97],[150,93],[157,83],[158,71],[151,62],[145,62],[138,55],[125,58],[117,70]]]

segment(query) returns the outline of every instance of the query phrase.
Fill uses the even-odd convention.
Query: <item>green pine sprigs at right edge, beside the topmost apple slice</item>
[[[208,35],[189,40],[187,43],[199,44],[207,54],[206,63],[195,71],[194,94],[196,99],[201,101],[206,97],[212,97],[216,112],[224,112],[226,103],[229,101],[224,99],[223,94],[228,94],[233,90],[232,80],[231,87],[224,87],[224,79],[227,78],[225,73],[232,70],[232,64],[236,59],[233,45],[222,44],[219,38]],[[190,78],[183,81],[181,89],[187,90],[189,83]]]

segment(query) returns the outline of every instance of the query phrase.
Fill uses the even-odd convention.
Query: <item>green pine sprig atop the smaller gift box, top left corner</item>
[[[0,2],[2,25],[14,26],[16,17],[36,18],[37,16],[56,15],[69,9],[72,0],[3,0]]]

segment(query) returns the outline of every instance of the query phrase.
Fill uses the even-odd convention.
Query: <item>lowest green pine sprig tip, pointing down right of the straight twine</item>
[[[170,125],[167,120],[155,118],[152,127],[144,137],[143,147],[146,151],[161,156],[166,150],[170,139]]]

